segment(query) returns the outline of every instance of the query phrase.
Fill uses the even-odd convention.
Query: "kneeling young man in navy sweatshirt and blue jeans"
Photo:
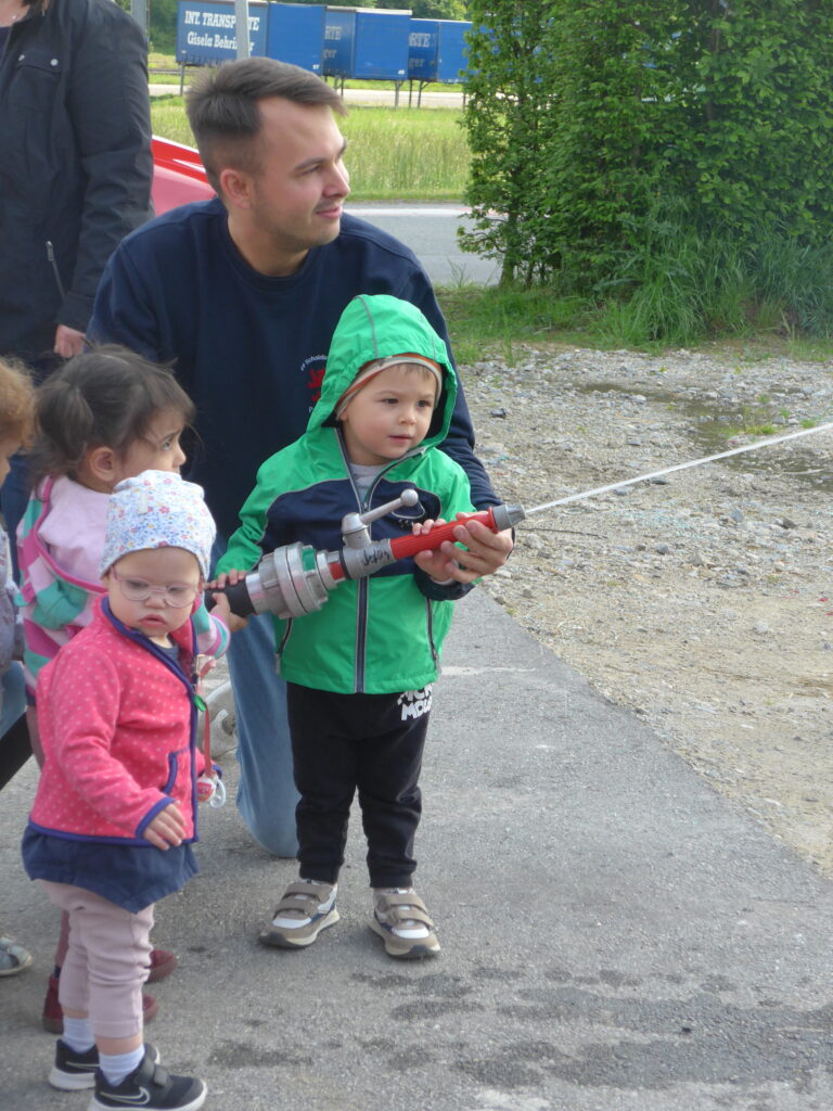
[[[444,341],[431,283],[398,240],[343,213],[350,191],[334,89],[268,58],[228,62],[192,88],[191,128],[218,199],[167,213],[129,237],[99,287],[89,336],[175,372],[200,414],[191,477],[228,538],[263,459],[297,440],[318,400],[335,324],[359,293],[415,304]],[[473,452],[461,393],[443,450],[479,508],[495,497]],[[472,523],[448,544],[449,577],[489,574],[512,541]],[[456,562],[454,562],[454,557]],[[240,747],[238,805],[278,855],[297,851],[285,692],[271,619],[234,638],[230,669]]]

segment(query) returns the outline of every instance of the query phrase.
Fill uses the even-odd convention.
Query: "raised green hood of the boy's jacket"
[[[449,350],[414,304],[387,293],[354,297],[342,312],[330,343],[321,397],[310,416],[308,431],[335,424],[335,407],[365,363],[408,353],[432,359],[442,368],[440,401],[420,447],[441,443],[448,433],[456,398],[456,376]]]

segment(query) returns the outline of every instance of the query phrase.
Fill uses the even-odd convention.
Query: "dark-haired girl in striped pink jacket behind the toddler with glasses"
[[[18,530],[18,554],[27,717],[39,761],[34,703],[40,671],[90,623],[104,594],[99,559],[110,494],[122,479],[142,471],[178,472],[185,459],[180,436],[193,417],[193,403],[170,370],[116,346],[76,356],[38,390],[38,436],[28,454],[32,493]],[[194,619],[200,650],[219,654],[217,627],[204,607]],[[42,1017],[44,1029],[58,1034],[66,950],[62,915]],[[172,952],[151,950],[149,980],[161,980],[175,964]],[[145,993],[143,1005],[147,1022],[158,1004]]]

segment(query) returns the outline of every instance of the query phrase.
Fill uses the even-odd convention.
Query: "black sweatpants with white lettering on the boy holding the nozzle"
[[[335,883],[350,804],[359,791],[372,888],[409,888],[431,687],[398,694],[334,694],[287,684],[299,874]]]

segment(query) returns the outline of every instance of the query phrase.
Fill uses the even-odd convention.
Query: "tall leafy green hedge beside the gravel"
[[[623,293],[663,267],[670,282],[678,248],[691,262],[725,243],[754,296],[765,244],[824,252],[833,4],[472,0],[470,11],[464,246],[501,258],[505,281]],[[688,281],[693,294],[696,267]]]

